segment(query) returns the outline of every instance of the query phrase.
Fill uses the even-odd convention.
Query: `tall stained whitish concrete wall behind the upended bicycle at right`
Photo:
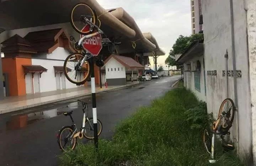
[[[202,2],[204,16],[204,44],[205,44],[205,66],[206,71],[217,70],[217,76],[206,77],[207,82],[207,109],[217,117],[220,104],[229,97],[234,100],[234,79],[228,78],[229,95],[225,87],[225,77],[222,70],[225,70],[224,54],[229,52],[228,70],[233,70],[233,59],[231,49],[231,23],[230,4],[223,0],[204,0]],[[234,0],[234,22],[235,22],[235,57],[236,70],[241,70],[242,77],[237,79],[238,90],[238,116],[239,116],[239,137],[238,126],[235,116],[234,125],[231,128],[231,140],[236,143],[241,154],[250,154],[251,151],[251,108],[250,108],[250,85],[247,57],[246,37],[246,12],[244,1]],[[255,7],[255,4],[254,4]]]

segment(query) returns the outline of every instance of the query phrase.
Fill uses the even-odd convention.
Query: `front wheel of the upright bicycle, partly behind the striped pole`
[[[89,124],[90,122],[90,124]],[[91,126],[93,127],[93,119],[90,118],[89,121],[86,121],[85,122],[85,132],[83,133],[84,134],[84,137],[87,138],[87,139],[94,139],[94,129],[91,128]],[[98,135],[101,134],[102,132],[102,123],[100,120],[97,119],[97,127],[98,127]]]

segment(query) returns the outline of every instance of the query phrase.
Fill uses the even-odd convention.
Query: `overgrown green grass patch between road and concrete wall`
[[[200,118],[191,114],[204,108],[198,105],[192,93],[174,89],[121,122],[111,140],[101,139],[98,154],[92,142],[79,144],[59,156],[60,165],[116,166],[128,161],[136,166],[209,166],[202,143],[207,114]],[[233,153],[217,153],[216,166],[244,166]]]

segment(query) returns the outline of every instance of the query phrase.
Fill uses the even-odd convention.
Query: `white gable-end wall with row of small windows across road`
[[[114,58],[111,58],[106,63],[106,79],[112,79],[112,78],[126,78],[126,70],[125,67],[119,63]],[[119,67],[119,71],[118,71]],[[113,71],[111,71],[111,68]],[[114,68],[116,68],[116,71],[114,71]],[[123,68],[123,71],[122,71]],[[108,70],[109,69],[109,70]]]

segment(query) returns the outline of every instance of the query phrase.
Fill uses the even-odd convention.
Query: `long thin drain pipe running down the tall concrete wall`
[[[238,116],[238,93],[236,84],[236,57],[235,57],[235,34],[234,34],[234,9],[233,0],[230,0],[230,20],[231,20],[231,42],[232,42],[232,59],[233,59],[233,73],[234,73],[234,104],[236,107],[236,125],[237,125],[237,149],[239,150],[239,116]],[[238,151],[239,155],[239,151]]]

